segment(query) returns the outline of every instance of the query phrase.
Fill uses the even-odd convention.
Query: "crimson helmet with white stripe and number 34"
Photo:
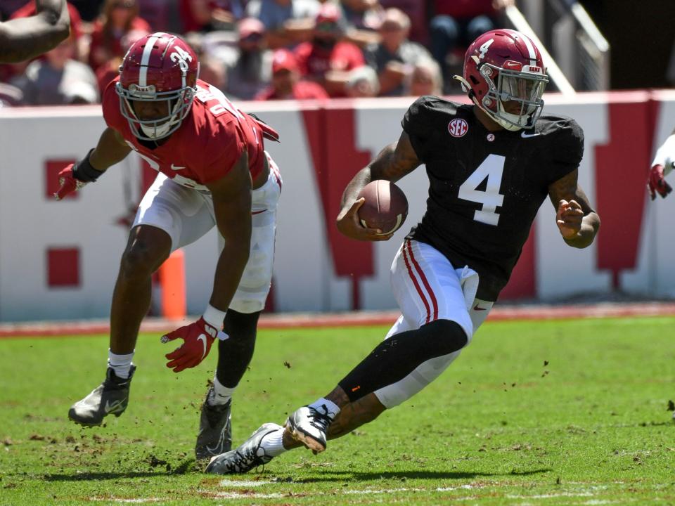
[[[120,110],[134,135],[156,141],[176,131],[191,110],[198,74],[197,55],[180,37],[157,32],[134,42],[120,65],[120,81],[115,85]],[[136,100],[166,100],[167,115],[141,120],[134,110]]]

